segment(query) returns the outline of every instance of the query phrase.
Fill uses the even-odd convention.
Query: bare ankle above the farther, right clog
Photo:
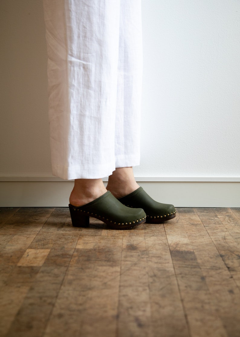
[[[113,174],[109,176],[107,190],[117,199],[138,188],[139,185],[134,178],[132,167],[118,167]]]

